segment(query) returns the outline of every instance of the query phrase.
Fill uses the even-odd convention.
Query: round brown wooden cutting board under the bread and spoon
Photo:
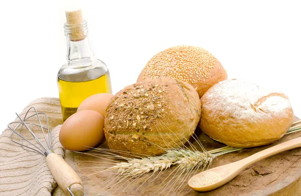
[[[295,121],[297,120],[299,119],[295,117]],[[202,142],[206,150],[216,149],[225,146],[224,144],[209,138],[199,129],[196,130],[196,134],[198,135],[200,141]],[[274,142],[271,145],[243,149],[240,151],[218,156],[213,160],[213,163],[210,166],[210,168],[240,160],[260,150],[300,136],[301,132],[296,132],[285,135],[283,138]],[[198,146],[196,141],[191,141],[195,146]],[[99,147],[108,148],[106,142],[102,143]],[[153,181],[144,180],[146,177],[141,178],[139,183],[137,182],[137,180],[135,183],[132,183],[133,185],[128,186],[124,191],[120,192],[117,190],[116,192],[114,192],[118,188],[118,185],[101,190],[101,185],[105,184],[108,180],[110,180],[113,177],[113,174],[107,172],[95,173],[103,169],[97,168],[98,163],[108,162],[107,160],[70,151],[66,151],[65,160],[73,168],[78,169],[76,171],[80,176],[91,174],[89,176],[82,177],[86,196],[152,194],[159,195],[159,192],[157,190],[161,187],[160,184],[172,171],[172,168],[170,170],[167,170],[164,174],[158,176]],[[83,167],[88,168],[79,169]],[[132,181],[132,179],[129,179],[129,181]],[[149,183],[149,181],[152,182]],[[257,163],[254,163],[242,172],[240,172],[230,182],[226,183],[218,189],[209,192],[194,191],[187,185],[187,180],[184,182],[184,185],[185,188],[182,191],[177,192],[176,195],[301,195],[301,148],[285,151],[280,154],[263,159]],[[137,187],[139,188],[136,189]],[[101,192],[99,192],[100,190]],[[169,193],[165,192],[164,194],[160,195],[171,195],[172,192],[173,190]]]

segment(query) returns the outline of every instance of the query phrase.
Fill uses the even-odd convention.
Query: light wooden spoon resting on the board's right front
[[[233,179],[240,171],[242,171],[243,169],[245,169],[247,166],[261,160],[264,159],[266,157],[269,157],[271,155],[277,154],[279,152],[283,152],[285,150],[289,150],[289,149],[293,149],[293,148],[297,148],[297,147],[301,147],[301,137],[297,137],[295,139],[291,139],[289,141],[285,141],[283,143],[280,143],[278,145],[272,146],[270,148],[264,149],[260,152],[257,152],[247,158],[241,159],[239,161],[236,162],[232,162],[226,165],[222,165],[219,167],[215,167],[212,169],[208,169],[206,171],[200,172],[194,176],[192,176],[189,181],[188,181],[188,185],[193,188],[194,190],[197,191],[210,191],[213,190],[215,188],[218,188],[222,185],[224,185],[225,183],[227,183],[228,181],[230,181],[231,179]],[[218,174],[220,174],[222,177],[221,179],[218,179],[218,181],[215,181],[214,183],[210,184],[210,185],[206,185],[206,186],[200,186],[200,187],[196,187],[192,184],[192,180],[195,179],[196,177],[200,177],[204,174],[204,172],[216,172]],[[196,180],[196,179],[195,179]]]

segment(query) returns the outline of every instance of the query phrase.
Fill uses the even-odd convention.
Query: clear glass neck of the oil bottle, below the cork
[[[72,41],[67,36],[67,61],[82,62],[93,60],[94,54],[90,48],[88,37],[80,41]]]

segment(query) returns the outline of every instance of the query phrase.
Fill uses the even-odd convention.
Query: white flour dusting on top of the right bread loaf
[[[219,86],[222,86],[222,88],[219,88]],[[213,104],[216,108],[211,108],[212,110],[225,110],[227,112],[231,110],[237,118],[261,118],[262,115],[271,112],[276,115],[275,113],[281,112],[279,108],[291,107],[287,96],[283,93],[275,93],[267,88],[260,88],[255,83],[241,79],[229,79],[219,82],[214,88],[209,89],[208,94],[210,94],[208,96],[214,97],[212,101],[217,103]],[[261,99],[262,101],[260,101]]]

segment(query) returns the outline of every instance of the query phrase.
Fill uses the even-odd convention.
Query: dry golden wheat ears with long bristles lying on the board
[[[300,131],[301,124],[296,125],[300,122],[301,120],[294,122],[286,134]],[[160,132],[160,130],[158,131]],[[158,176],[162,174],[162,172],[166,170],[170,170],[169,168],[174,166],[173,167],[174,169],[171,169],[171,172],[168,175],[168,177],[170,176],[173,177],[170,180],[167,180],[168,177],[166,177],[166,179],[164,179],[162,182],[163,185],[160,186],[160,188],[158,188],[158,190],[154,192],[152,195],[161,195],[163,194],[163,192],[165,192],[165,195],[177,195],[178,192],[182,191],[185,187],[187,187],[186,183],[184,182],[187,181],[192,175],[194,175],[199,168],[202,168],[202,170],[204,170],[206,167],[208,168],[212,164],[214,158],[217,156],[243,149],[243,148],[225,146],[222,148],[206,151],[202,146],[198,137],[194,135],[192,135],[192,137],[197,141],[198,145],[202,148],[202,151],[197,150],[197,148],[193,146],[192,143],[188,140],[187,143],[190,145],[191,149],[189,149],[184,144],[183,147],[181,146],[177,148],[168,147],[164,149],[166,153],[160,156],[143,157],[144,155],[142,154],[131,153],[131,156],[134,157],[128,158],[116,154],[116,153],[127,153],[124,151],[111,150],[111,149],[94,149],[93,151],[96,151],[97,153],[85,153],[85,154],[97,156],[113,162],[106,163],[106,164],[112,164],[112,166],[109,166],[107,168],[106,165],[105,169],[101,171],[97,171],[95,173],[91,173],[89,175],[93,175],[100,172],[106,172],[106,171],[115,171],[116,172],[115,175],[110,180],[108,180],[106,184],[102,186],[99,192],[102,192],[103,190],[109,187],[119,184],[120,186],[117,189],[115,189],[114,192],[112,192],[112,194],[115,194],[121,187],[126,185],[126,187],[119,192],[119,194],[123,194],[124,193],[123,191],[128,186],[130,185],[134,186],[134,184],[140,183],[139,186],[136,188],[136,190],[138,190],[139,187],[141,187],[147,180],[153,177],[152,181],[154,181]],[[125,162],[112,160],[112,158],[123,159],[125,160]],[[153,171],[153,173],[144,176],[144,174],[150,171]],[[155,173],[157,174],[155,175]]]

